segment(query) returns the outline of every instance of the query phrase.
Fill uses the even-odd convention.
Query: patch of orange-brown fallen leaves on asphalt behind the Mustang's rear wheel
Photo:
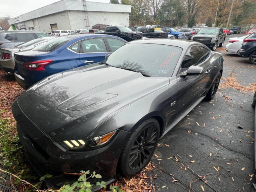
[[[249,86],[243,86],[233,77],[233,75],[233,73],[230,73],[230,76],[226,79],[222,78],[224,82],[220,84],[219,88],[234,88],[243,93],[254,92],[256,90],[256,83],[250,83]]]

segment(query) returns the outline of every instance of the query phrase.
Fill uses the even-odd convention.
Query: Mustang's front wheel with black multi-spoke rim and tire
[[[148,164],[156,149],[159,135],[160,126],[154,118],[145,120],[136,128],[120,155],[119,170],[124,176],[132,176]]]

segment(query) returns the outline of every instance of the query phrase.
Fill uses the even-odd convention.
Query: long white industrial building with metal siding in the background
[[[17,30],[91,29],[95,24],[129,26],[130,5],[60,0],[8,20]],[[88,20],[87,20],[88,19]]]

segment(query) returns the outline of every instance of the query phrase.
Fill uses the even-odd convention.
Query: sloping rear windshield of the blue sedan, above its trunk
[[[43,51],[43,52],[48,52],[52,51],[58,47],[60,47],[62,44],[65,44],[66,42],[70,41],[70,38],[67,37],[56,37],[53,39],[48,40],[47,42],[38,45],[35,47],[34,51]]]

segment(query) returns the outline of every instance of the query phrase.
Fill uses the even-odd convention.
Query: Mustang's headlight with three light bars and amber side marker
[[[62,144],[68,149],[68,150],[92,150],[94,148],[98,148],[97,146],[102,146],[106,143],[108,143],[111,138],[115,135],[117,130],[112,131],[110,133],[107,133],[102,136],[97,136],[94,138],[90,138],[88,140],[65,140],[62,142]]]

